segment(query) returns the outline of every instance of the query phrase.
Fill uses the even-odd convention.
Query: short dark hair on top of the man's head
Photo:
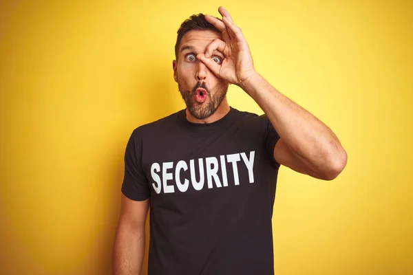
[[[179,51],[179,46],[180,46],[180,41],[182,40],[182,37],[184,37],[184,34],[189,32],[190,30],[212,30],[214,32],[221,33],[220,30],[214,27],[211,23],[205,19],[205,15],[202,13],[199,14],[193,14],[189,19],[185,20],[182,22],[180,25],[180,28],[178,29],[178,37],[176,39],[176,44],[175,44],[175,58],[178,60],[178,51]]]

